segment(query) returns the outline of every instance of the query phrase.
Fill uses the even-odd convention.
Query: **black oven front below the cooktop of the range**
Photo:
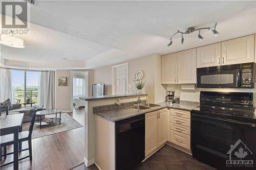
[[[229,119],[191,114],[191,148],[192,154],[198,160],[226,169],[226,160],[241,159],[236,155],[244,148],[247,153],[244,159],[255,163],[255,124],[237,122]],[[239,142],[240,140],[242,142]],[[238,144],[238,145],[236,145]],[[231,145],[236,146],[232,150]],[[249,149],[249,150],[248,150]],[[231,152],[231,155],[228,154]],[[238,152],[238,154],[236,154]]]

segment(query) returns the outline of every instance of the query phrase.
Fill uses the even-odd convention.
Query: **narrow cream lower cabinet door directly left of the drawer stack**
[[[161,147],[167,141],[167,109],[159,111],[157,128],[157,147]]]

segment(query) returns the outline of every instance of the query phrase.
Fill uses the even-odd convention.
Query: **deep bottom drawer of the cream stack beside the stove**
[[[170,141],[190,150],[190,136],[170,130]]]

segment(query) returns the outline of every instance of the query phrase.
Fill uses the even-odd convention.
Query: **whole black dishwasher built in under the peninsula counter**
[[[145,158],[145,115],[116,123],[116,169],[131,169]]]

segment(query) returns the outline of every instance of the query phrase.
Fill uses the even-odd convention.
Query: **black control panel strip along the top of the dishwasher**
[[[140,126],[145,125],[145,119],[144,117],[133,119],[129,122],[121,123],[118,125],[118,133],[122,133]]]

